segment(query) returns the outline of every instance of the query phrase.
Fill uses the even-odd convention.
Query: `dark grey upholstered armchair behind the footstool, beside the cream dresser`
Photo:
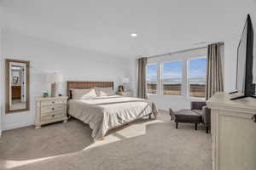
[[[190,103],[191,111],[198,115],[201,115],[201,122],[209,132],[209,127],[211,127],[211,110],[207,107],[207,103],[204,101],[191,101]]]

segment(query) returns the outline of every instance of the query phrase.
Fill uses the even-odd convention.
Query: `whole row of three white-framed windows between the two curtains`
[[[204,99],[206,77],[207,48],[157,55],[148,58],[146,91],[165,99],[169,96]]]

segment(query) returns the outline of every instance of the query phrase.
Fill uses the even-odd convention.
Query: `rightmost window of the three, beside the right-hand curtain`
[[[205,97],[207,58],[189,59],[189,95]]]

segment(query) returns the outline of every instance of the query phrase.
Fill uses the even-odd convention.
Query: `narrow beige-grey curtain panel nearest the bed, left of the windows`
[[[138,59],[138,83],[137,83],[137,97],[147,98],[146,92],[146,65],[147,58]]]

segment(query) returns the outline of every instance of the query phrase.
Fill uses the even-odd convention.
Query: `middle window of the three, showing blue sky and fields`
[[[183,62],[165,62],[162,70],[163,94],[181,95]]]

